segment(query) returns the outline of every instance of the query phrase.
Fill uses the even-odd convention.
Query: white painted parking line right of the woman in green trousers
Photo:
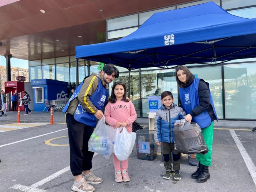
[[[246,153],[246,150],[245,150],[244,146],[242,145],[241,141],[238,139],[235,131],[229,130],[229,132],[231,133],[231,136],[233,137],[234,141],[236,142],[237,147],[242,155],[242,158],[244,159],[244,162],[245,162],[249,172],[251,173],[254,184],[256,185],[256,166],[254,165],[254,163],[253,163],[252,159],[250,158],[250,156],[248,155],[248,153]]]

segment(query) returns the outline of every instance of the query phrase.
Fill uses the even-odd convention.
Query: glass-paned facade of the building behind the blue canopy
[[[106,20],[106,41],[124,37],[140,27],[154,12],[206,3],[208,0],[173,4],[157,10],[148,10]],[[214,0],[230,14],[244,18],[256,18],[256,2],[253,0]],[[212,97],[219,119],[256,120],[256,58],[233,60],[220,65],[185,65],[198,78],[209,82]],[[76,74],[75,56],[56,57],[29,61],[31,79],[56,79],[69,83],[69,91],[76,88],[76,79],[92,72],[98,72],[98,63],[79,61]],[[128,83],[129,72],[120,68],[118,80]],[[130,73],[130,99],[135,105],[138,117],[148,117],[148,96],[160,95],[162,91],[171,91],[174,102],[178,102],[178,87],[174,69],[142,68]],[[127,84],[128,86],[128,84]],[[110,84],[111,88],[111,84]],[[110,89],[111,91],[111,89]]]

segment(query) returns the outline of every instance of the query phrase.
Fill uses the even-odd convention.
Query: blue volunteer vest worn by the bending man
[[[93,80],[97,78],[96,76],[94,76]],[[91,82],[93,82],[93,80],[91,80]],[[84,81],[83,81],[84,82]],[[74,91],[73,95],[71,96],[71,98],[68,100],[68,103],[65,105],[64,109],[62,110],[64,113],[67,112],[68,110],[68,106],[69,103],[73,100],[76,99],[78,97],[78,94],[81,90],[83,83],[81,83],[76,90]],[[90,89],[90,86],[89,88]],[[97,89],[94,91],[94,93],[89,97],[91,103],[93,103],[93,105],[98,109],[98,110],[102,110],[105,103],[107,102],[109,98],[109,93],[108,90],[102,85],[101,83],[101,79],[99,79],[98,82],[98,87]],[[89,106],[89,105],[88,105]],[[93,113],[89,113],[79,102],[78,106],[76,107],[75,113],[74,113],[74,118],[76,121],[89,125],[91,127],[95,127],[97,124],[97,118],[94,116]]]

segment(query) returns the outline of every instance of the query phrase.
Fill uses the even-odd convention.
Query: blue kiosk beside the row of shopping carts
[[[34,79],[31,80],[31,85],[34,90],[34,111],[43,111],[48,101],[68,97],[67,82],[53,79]]]

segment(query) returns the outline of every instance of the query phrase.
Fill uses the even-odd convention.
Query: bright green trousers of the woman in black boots
[[[203,154],[196,154],[196,160],[200,161],[201,164],[205,166],[211,166],[211,154],[212,154],[212,140],[213,140],[213,121],[209,127],[203,128],[203,137],[204,141],[208,147],[208,153]]]

